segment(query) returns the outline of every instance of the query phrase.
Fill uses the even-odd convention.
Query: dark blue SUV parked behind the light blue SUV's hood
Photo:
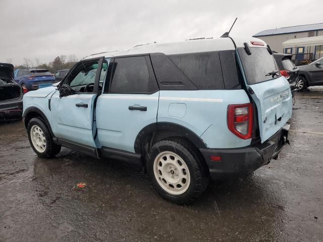
[[[15,71],[15,82],[28,91],[49,87],[55,83],[55,77],[46,69],[30,68]]]

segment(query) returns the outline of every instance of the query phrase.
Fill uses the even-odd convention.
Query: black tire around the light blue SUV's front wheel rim
[[[43,137],[45,139],[46,145],[45,145],[45,149],[44,151],[40,152],[39,150],[37,150],[37,148],[35,148],[33,142],[32,142],[32,137],[31,137],[31,129],[34,126],[38,126],[41,131],[43,132]],[[27,134],[28,134],[28,139],[29,139],[29,143],[31,148],[34,150],[34,152],[41,158],[50,158],[53,157],[55,155],[57,155],[58,153],[60,153],[61,151],[61,146],[57,145],[53,142],[52,137],[47,129],[47,126],[44,124],[44,122],[40,119],[40,118],[32,118],[29,120],[28,126],[27,126]]]

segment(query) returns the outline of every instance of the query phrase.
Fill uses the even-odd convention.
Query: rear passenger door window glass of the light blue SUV
[[[111,93],[149,93],[156,89],[153,74],[149,73],[146,56],[115,58]]]

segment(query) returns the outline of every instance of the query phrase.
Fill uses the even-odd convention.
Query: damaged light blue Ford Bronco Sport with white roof
[[[260,39],[106,54],[79,62],[56,86],[24,95],[24,122],[38,156],[55,156],[64,146],[142,165],[161,196],[189,203],[209,177],[250,173],[288,142],[289,83]]]

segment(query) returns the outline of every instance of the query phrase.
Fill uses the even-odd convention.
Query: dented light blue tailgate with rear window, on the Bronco
[[[255,46],[247,43],[251,54],[238,47],[239,62],[247,90],[258,111],[261,142],[277,133],[291,118],[292,94],[285,77],[276,75],[278,67],[268,49],[262,42]]]

